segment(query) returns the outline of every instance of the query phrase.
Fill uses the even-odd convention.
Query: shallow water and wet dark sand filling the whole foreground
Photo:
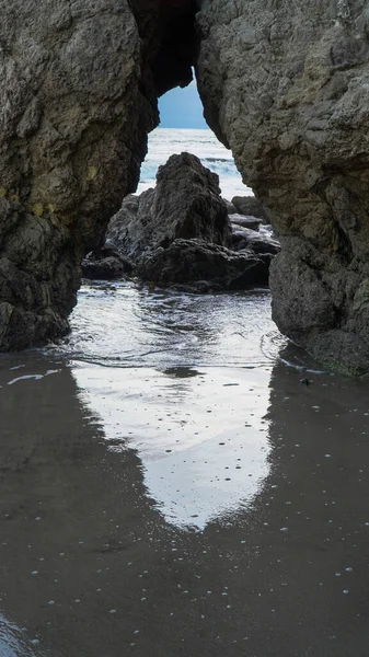
[[[0,656],[367,657],[368,383],[265,290],[89,286],[72,323],[0,360]]]

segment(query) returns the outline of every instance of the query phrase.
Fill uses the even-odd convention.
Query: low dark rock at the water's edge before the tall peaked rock
[[[218,289],[238,290],[267,285],[270,255],[237,253],[201,240],[174,240],[147,254],[138,266],[143,280],[162,286],[207,281]]]

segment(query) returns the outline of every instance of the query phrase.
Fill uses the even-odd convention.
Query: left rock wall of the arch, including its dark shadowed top
[[[0,350],[64,333],[80,262],[132,192],[157,96],[191,81],[193,0],[4,0]],[[165,64],[166,62],[166,64]]]

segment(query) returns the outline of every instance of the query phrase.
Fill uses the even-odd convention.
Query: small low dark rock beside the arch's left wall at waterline
[[[91,251],[82,261],[82,276],[91,280],[116,280],[130,274],[134,265],[117,249],[102,246]]]

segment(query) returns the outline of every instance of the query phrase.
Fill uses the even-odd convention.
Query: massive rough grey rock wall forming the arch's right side
[[[197,77],[281,238],[280,330],[369,370],[369,11],[366,0],[201,0]]]

